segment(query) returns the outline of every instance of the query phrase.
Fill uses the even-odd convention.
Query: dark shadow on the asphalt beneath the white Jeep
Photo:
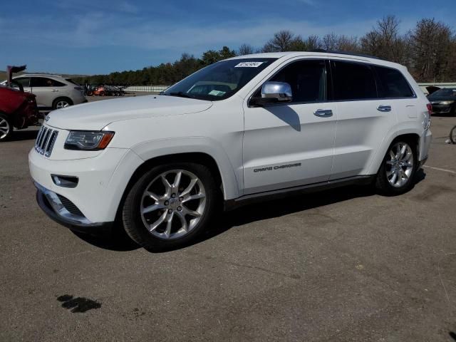
[[[423,169],[418,170],[415,175],[416,184],[424,180],[425,177],[426,174],[423,172]],[[183,249],[194,244],[204,242],[207,239],[217,237],[217,235],[227,232],[232,227],[239,227],[254,221],[281,217],[294,212],[302,212],[316,207],[323,207],[328,204],[348,201],[353,198],[370,197],[373,195],[375,195],[375,189],[373,187],[353,185],[306,195],[290,195],[284,199],[274,199],[259,202],[257,204],[249,204],[245,207],[234,209],[231,212],[220,211],[216,214],[219,219],[215,218],[213,220],[214,223],[212,223],[212,227],[207,229],[206,232],[201,234],[196,239],[192,240],[192,242],[179,248],[149,250],[149,252],[162,253],[171,252],[175,249]],[[115,227],[111,234],[103,237],[89,236],[76,232],[73,232],[73,234],[76,234],[89,244],[93,244],[94,246],[103,249],[126,252],[141,248],[138,244],[133,242],[130,237],[128,237],[119,225]]]

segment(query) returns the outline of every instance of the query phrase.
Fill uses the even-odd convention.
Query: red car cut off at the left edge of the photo
[[[35,95],[24,92],[21,84],[11,81],[12,73],[25,68],[26,66],[8,66],[7,86],[0,86],[0,142],[11,137],[13,128],[20,130],[36,125],[40,118]]]

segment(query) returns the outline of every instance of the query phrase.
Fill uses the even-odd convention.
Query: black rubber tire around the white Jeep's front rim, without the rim
[[[170,170],[185,170],[192,172],[196,175],[204,186],[205,192],[205,207],[202,216],[199,218],[199,222],[195,225],[190,232],[187,232],[182,237],[175,239],[162,239],[153,235],[146,228],[142,221],[140,213],[140,207],[142,205],[142,195],[147,190],[150,183],[155,180],[163,172]],[[168,249],[175,249],[179,247],[185,247],[188,242],[192,241],[207,227],[212,214],[217,208],[217,189],[216,182],[209,168],[204,165],[196,164],[193,162],[173,162],[170,164],[159,165],[152,167],[151,170],[145,172],[140,177],[125,197],[123,203],[122,219],[123,227],[125,232],[130,236],[133,241],[139,244],[145,249],[151,251],[162,251]],[[167,210],[165,209],[164,212]]]

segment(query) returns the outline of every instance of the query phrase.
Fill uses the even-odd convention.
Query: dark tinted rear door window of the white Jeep
[[[366,100],[378,98],[371,66],[363,63],[332,61],[334,100]]]

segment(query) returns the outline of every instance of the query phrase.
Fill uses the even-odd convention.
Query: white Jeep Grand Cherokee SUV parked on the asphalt
[[[187,243],[225,209],[353,183],[410,190],[430,104],[407,69],[341,53],[214,63],[161,95],[48,115],[28,158],[41,209],[144,247]],[[217,224],[214,222],[214,224]]]

